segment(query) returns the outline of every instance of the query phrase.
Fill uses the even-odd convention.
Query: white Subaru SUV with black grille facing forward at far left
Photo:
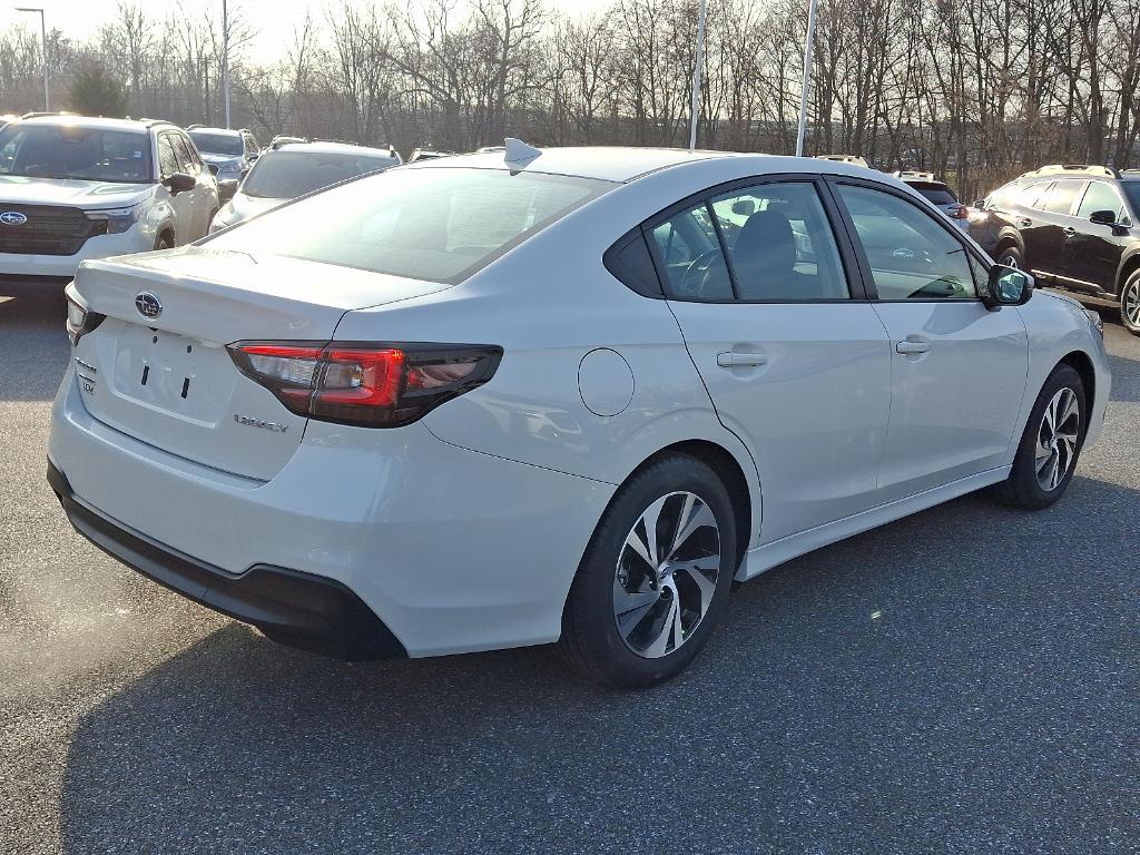
[[[206,234],[218,186],[169,122],[38,116],[0,130],[0,275],[71,278],[80,262]]]

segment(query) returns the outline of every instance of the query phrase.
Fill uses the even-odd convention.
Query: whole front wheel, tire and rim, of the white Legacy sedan
[[[1005,504],[1040,511],[1065,495],[1084,443],[1086,413],[1081,375],[1057,366],[1029,413],[1013,469],[997,487]]]

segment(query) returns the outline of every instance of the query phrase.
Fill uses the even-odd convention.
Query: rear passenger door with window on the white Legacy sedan
[[[717,415],[756,461],[765,543],[877,502],[890,357],[821,187],[738,182],[648,223]]]

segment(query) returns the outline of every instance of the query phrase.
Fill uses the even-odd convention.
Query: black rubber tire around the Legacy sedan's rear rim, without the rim
[[[642,526],[642,531],[646,530],[641,521],[642,515],[662,499],[665,504],[661,505],[660,518],[654,527],[656,536],[659,540],[676,542],[679,534],[677,529],[682,527],[684,515],[682,507],[687,500],[684,494],[692,494],[703,503],[711,512],[715,528],[701,527],[669,555],[679,555],[685,548],[684,545],[698,535],[703,538],[702,549],[710,543],[717,544],[720,559],[717,562],[716,578],[714,580],[707,575],[703,576],[706,583],[715,581],[715,585],[708,586],[712,593],[707,596],[701,596],[705,586],[695,585],[692,573],[686,576],[678,570],[674,579],[668,570],[653,569],[636,554],[630,555],[632,547],[626,545],[627,535],[635,531],[637,526]],[[711,548],[705,551],[710,553]],[[706,463],[687,455],[674,454],[662,457],[622,484],[598,522],[578,567],[563,610],[562,638],[559,642],[561,652],[584,676],[616,689],[640,689],[673,677],[700,653],[724,618],[732,577],[736,570],[736,557],[735,516],[732,499],[720,478]],[[678,557],[678,561],[681,560]],[[640,569],[630,567],[629,562],[634,564],[640,562]],[[669,562],[661,563],[665,565]],[[643,617],[636,622],[636,627],[644,626],[645,635],[660,638],[662,634],[653,632],[654,627],[671,624],[668,614],[673,612],[668,609],[671,606],[673,596],[676,597],[676,608],[681,610],[682,616],[687,613],[690,619],[695,612],[684,610],[686,602],[691,604],[692,597],[698,596],[699,602],[707,603],[702,616],[697,617],[689,628],[683,627],[684,617],[677,618],[677,624],[683,628],[679,636],[675,630],[665,630],[665,635],[674,640],[671,650],[668,641],[663,644],[663,649],[668,652],[659,656],[638,654],[630,643],[627,643],[627,636],[619,630],[614,602],[618,596],[617,585],[621,581],[619,564],[622,567],[625,584],[632,585],[630,573],[636,572],[641,575],[645,585],[656,587],[656,591],[635,594],[650,600],[654,594],[658,597],[654,604],[643,606],[649,611],[642,612]],[[707,569],[711,571],[711,568]],[[658,572],[662,572],[660,579]],[[665,573],[669,575],[673,588],[669,588],[663,580]],[[661,609],[666,611],[662,612]],[[641,609],[633,611],[641,612]],[[637,632],[636,628],[633,630]],[[629,634],[628,637],[633,638],[634,635]],[[676,641],[678,637],[679,641]]]

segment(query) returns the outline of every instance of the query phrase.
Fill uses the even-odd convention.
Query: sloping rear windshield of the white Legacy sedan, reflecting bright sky
[[[614,187],[491,169],[397,169],[270,211],[209,242],[456,283]]]

